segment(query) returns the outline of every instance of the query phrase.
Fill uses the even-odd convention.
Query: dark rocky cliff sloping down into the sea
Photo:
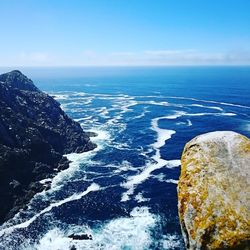
[[[94,148],[60,104],[20,71],[0,75],[0,223],[48,188],[39,180],[68,167],[63,154]]]

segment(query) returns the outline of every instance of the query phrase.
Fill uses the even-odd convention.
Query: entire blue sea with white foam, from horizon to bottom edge
[[[51,189],[0,227],[0,249],[184,249],[182,150],[215,130],[250,137],[250,67],[20,70],[96,132],[98,147],[68,155]]]

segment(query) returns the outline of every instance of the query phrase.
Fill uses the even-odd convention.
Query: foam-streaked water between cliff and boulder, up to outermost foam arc
[[[249,107],[160,94],[51,94],[98,134],[98,147],[68,155],[70,168],[51,189],[0,227],[0,249],[184,249],[176,197],[184,144],[232,124],[249,133]]]

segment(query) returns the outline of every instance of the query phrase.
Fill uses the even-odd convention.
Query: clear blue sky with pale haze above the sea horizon
[[[249,0],[1,0],[0,66],[250,65]]]

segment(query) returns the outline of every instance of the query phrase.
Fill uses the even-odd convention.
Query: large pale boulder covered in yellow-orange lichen
[[[187,143],[178,208],[187,249],[250,249],[250,140],[221,131]]]

